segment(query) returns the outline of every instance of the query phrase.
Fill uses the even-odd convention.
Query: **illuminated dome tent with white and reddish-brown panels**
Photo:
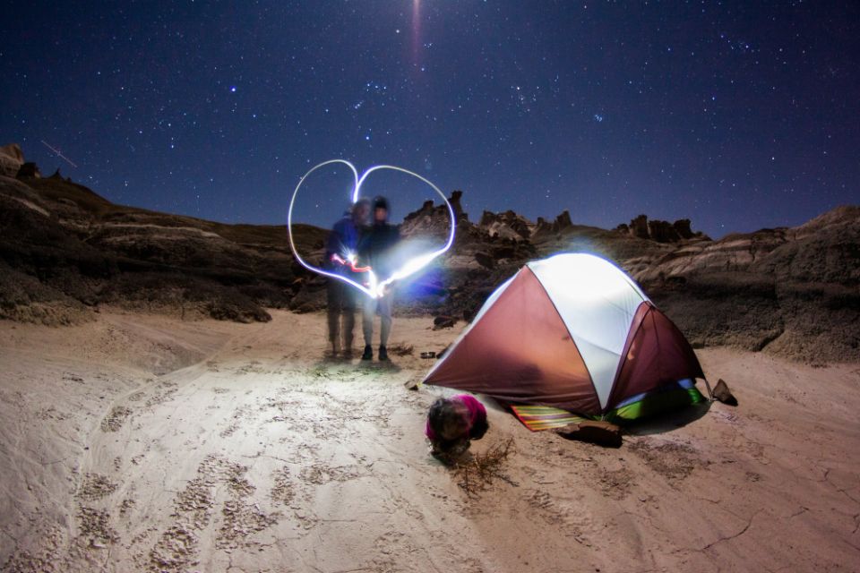
[[[563,253],[490,295],[425,383],[623,422],[702,401],[696,378],[690,343],[632,278]]]

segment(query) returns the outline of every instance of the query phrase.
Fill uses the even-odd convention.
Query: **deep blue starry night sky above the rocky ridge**
[[[19,2],[0,38],[0,144],[147,209],[283,224],[331,158],[472,220],[717,238],[860,202],[854,1]],[[318,173],[296,218],[327,227],[348,180]],[[366,192],[402,217],[405,177]]]

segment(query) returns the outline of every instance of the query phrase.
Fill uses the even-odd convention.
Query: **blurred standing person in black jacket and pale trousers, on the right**
[[[374,198],[374,224],[362,235],[358,244],[358,258],[363,264],[370,265],[377,279],[385,280],[396,270],[393,248],[400,242],[400,230],[388,222],[389,204],[382,196]],[[393,294],[389,286],[387,292],[378,298],[365,297],[362,329],[365,335],[365,353],[362,360],[373,360],[374,314],[378,313],[381,328],[379,333],[379,359],[388,360],[388,337],[391,334],[391,303]]]

